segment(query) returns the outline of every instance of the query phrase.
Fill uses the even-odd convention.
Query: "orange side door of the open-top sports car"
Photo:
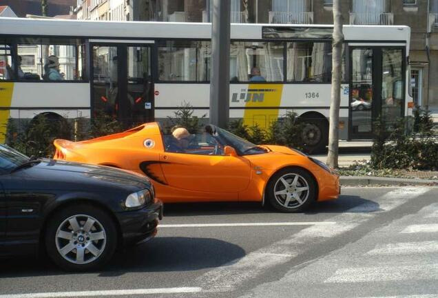
[[[244,157],[165,152],[161,166],[169,186],[202,192],[239,192],[251,179]]]

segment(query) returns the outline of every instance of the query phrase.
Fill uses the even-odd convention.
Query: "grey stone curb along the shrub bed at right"
[[[341,176],[340,183],[342,186],[438,186],[438,180],[368,176]]]

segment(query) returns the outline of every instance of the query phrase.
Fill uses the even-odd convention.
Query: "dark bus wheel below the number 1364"
[[[322,119],[304,119],[302,141],[308,153],[324,152],[328,145],[328,126]]]

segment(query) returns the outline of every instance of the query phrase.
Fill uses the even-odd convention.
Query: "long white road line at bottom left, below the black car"
[[[0,298],[58,298],[58,297],[96,297],[96,296],[128,296],[152,294],[179,294],[201,292],[202,288],[152,288],[132,290],[94,290],[78,292],[39,292],[26,294],[0,295]]]

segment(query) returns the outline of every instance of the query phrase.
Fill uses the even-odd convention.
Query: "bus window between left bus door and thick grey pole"
[[[160,81],[208,81],[210,41],[165,41],[158,46]]]

